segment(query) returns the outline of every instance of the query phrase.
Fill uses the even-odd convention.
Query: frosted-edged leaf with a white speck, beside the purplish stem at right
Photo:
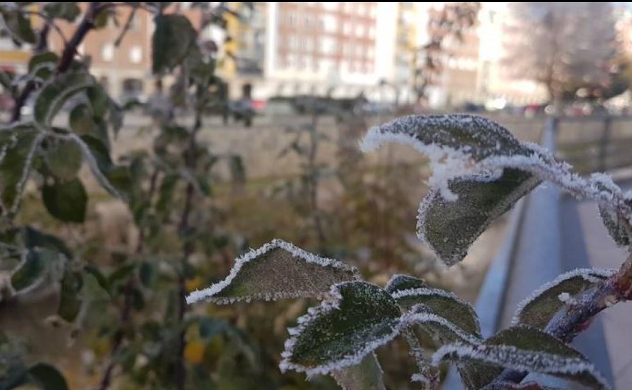
[[[512,324],[544,329],[553,316],[566,305],[560,299],[562,294],[568,294],[568,300],[573,300],[574,296],[593,288],[615,272],[614,269],[576,269],[557,276],[518,304]],[[566,298],[566,295],[562,297]]]

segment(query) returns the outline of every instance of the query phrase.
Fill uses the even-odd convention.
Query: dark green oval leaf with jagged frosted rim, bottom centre
[[[384,289],[354,281],[332,286],[330,295],[334,300],[310,309],[289,329],[282,371],[329,374],[362,362],[398,335],[399,307]]]

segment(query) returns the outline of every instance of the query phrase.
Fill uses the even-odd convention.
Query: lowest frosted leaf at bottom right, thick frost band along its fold
[[[470,363],[465,375],[471,375],[468,379],[474,378],[477,382],[473,386],[477,387],[468,388],[488,386],[502,372],[501,367],[561,377],[596,390],[609,388],[579,351],[550,334],[526,326],[500,331],[478,345],[442,346],[432,356],[432,362],[438,365],[444,360]]]

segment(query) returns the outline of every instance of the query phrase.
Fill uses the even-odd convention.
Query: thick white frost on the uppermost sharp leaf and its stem
[[[474,118],[476,118],[477,123],[470,125]],[[442,118],[436,116],[411,116],[394,119],[394,121],[384,125],[370,128],[367,135],[360,142],[360,147],[363,151],[368,152],[379,148],[385,143],[392,142],[411,145],[423,154],[427,154],[430,157],[430,164],[433,169],[432,177],[429,180],[430,191],[434,193],[432,197],[425,198],[427,203],[438,195],[441,195],[445,200],[455,200],[456,196],[449,190],[448,186],[448,181],[455,177],[495,171],[500,168],[516,168],[527,171],[541,180],[552,181],[580,200],[589,198],[598,202],[607,202],[616,207],[616,209],[623,211],[632,221],[632,205],[626,203],[626,195],[605,174],[593,174],[588,179],[582,178],[572,171],[572,167],[569,164],[557,161],[550,151],[544,147],[534,143],[518,142],[515,138],[511,142],[518,143],[524,149],[522,152],[507,151],[507,154],[502,154],[502,150],[499,150],[500,145],[497,144],[495,149],[499,153],[491,154],[480,161],[474,161],[470,147],[464,146],[455,149],[448,145],[425,143],[415,137],[418,126],[425,126],[423,131],[427,131],[431,123],[437,126],[437,130],[441,130],[441,126],[444,125],[459,126],[464,129],[468,128],[468,126],[483,126],[489,128],[492,136],[507,137],[507,135],[503,134],[504,129],[502,126],[495,124],[489,119],[480,117],[459,115],[444,116]],[[509,137],[513,136],[509,135]],[[483,138],[482,136],[479,140]],[[450,140],[450,142],[454,142],[454,140]],[[425,215],[423,212],[427,209],[427,206],[424,202],[420,204],[420,216]],[[420,226],[423,228],[423,221],[418,221],[418,236],[423,242],[428,243],[423,237],[423,231],[420,231]]]

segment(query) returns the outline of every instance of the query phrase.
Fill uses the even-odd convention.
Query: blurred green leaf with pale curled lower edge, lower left
[[[11,274],[11,286],[16,293],[32,291],[44,282],[48,271],[56,267],[59,253],[44,248],[25,250],[18,268]]]

